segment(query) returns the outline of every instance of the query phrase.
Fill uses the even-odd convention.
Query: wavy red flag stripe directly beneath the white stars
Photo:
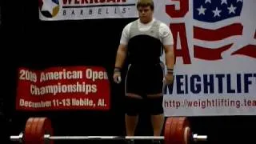
[[[194,38],[205,41],[218,41],[234,35],[242,35],[243,26],[240,23],[234,23],[217,30],[203,29],[194,26]]]

